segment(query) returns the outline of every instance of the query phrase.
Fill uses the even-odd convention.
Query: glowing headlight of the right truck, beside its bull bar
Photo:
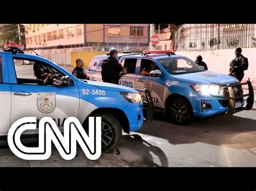
[[[220,87],[216,84],[211,84],[210,86],[208,85],[203,85],[203,84],[193,84],[190,83],[191,89],[196,91],[197,93],[201,93],[204,95],[218,95],[220,91]]]

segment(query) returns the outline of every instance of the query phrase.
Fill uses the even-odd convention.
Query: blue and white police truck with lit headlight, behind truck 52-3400
[[[107,57],[98,55],[92,59],[87,72],[90,79],[102,80],[100,66]],[[149,89],[154,109],[164,111],[176,124],[189,123],[192,117],[234,114],[252,108],[254,97],[250,80],[239,83],[232,76],[207,71],[172,50],[120,54],[118,60],[129,71],[119,84]],[[145,70],[148,75],[143,73]],[[242,86],[247,86],[249,94],[243,93]],[[145,100],[144,95],[142,100]]]

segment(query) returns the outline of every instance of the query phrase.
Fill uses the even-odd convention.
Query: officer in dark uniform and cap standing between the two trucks
[[[102,62],[102,80],[103,82],[119,84],[119,79],[127,70],[118,62],[118,51],[112,49],[107,60]]]

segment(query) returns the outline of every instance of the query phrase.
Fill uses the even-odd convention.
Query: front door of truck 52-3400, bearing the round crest
[[[43,64],[56,74],[70,75],[59,72],[50,62],[33,58],[32,65],[22,65],[22,61],[28,58],[22,55],[8,55],[8,63],[12,66],[10,70],[11,90],[11,124],[22,117],[45,116],[52,117],[60,129],[69,116],[77,117],[79,109],[79,92],[76,82],[73,86],[43,84],[44,80],[36,79],[34,65]],[[72,78],[72,76],[71,76]],[[33,133],[33,132],[31,132]]]

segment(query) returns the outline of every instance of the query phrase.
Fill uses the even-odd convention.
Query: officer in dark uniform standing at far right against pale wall
[[[244,77],[245,57],[241,54],[242,49],[239,47],[235,49],[235,58],[230,62],[230,74],[236,77],[240,82]]]

